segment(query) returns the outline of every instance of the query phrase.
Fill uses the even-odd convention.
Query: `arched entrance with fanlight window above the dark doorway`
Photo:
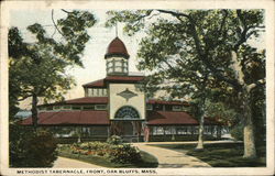
[[[138,110],[130,106],[121,107],[111,121],[111,134],[119,135],[128,142],[132,142],[136,138],[136,141],[139,141],[142,129],[141,123]]]

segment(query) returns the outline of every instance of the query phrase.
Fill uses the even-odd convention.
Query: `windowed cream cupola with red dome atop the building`
[[[105,55],[107,75],[128,75],[129,57],[124,43],[117,36],[109,44]]]

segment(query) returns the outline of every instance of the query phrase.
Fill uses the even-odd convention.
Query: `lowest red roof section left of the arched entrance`
[[[22,121],[21,124],[31,125],[32,118]],[[57,125],[57,124],[110,124],[107,111],[58,111],[58,112],[40,112],[40,125]]]

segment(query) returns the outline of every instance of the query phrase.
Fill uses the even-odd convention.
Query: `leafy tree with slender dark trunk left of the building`
[[[36,37],[33,43],[24,42],[16,28],[9,30],[10,107],[16,107],[18,101],[31,97],[34,127],[37,127],[38,97],[44,101],[61,100],[74,84],[66,68],[82,66],[80,55],[90,38],[87,29],[96,23],[94,15],[87,11],[63,11],[67,13],[66,19],[55,23],[52,10],[55,26],[52,36],[38,23],[28,26],[28,31]]]

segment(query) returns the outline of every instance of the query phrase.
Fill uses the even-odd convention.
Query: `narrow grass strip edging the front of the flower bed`
[[[108,158],[97,155],[73,154],[69,148],[63,148],[62,151],[58,152],[58,155],[62,157],[74,158],[109,168],[142,168],[142,167],[153,168],[157,167],[158,165],[157,160],[153,155],[143,151],[141,151],[142,161],[135,164],[112,163]]]

